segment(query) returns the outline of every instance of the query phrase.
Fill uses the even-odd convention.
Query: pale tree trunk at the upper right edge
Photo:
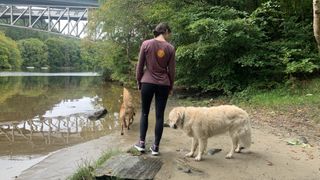
[[[320,0],[313,0],[313,33],[320,53]]]

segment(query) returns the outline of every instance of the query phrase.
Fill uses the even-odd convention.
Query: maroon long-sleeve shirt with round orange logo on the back
[[[142,43],[136,69],[139,85],[141,83],[166,85],[170,86],[171,90],[174,84],[175,68],[175,49],[170,43],[156,39]]]

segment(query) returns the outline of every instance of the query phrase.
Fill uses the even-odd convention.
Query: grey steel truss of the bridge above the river
[[[81,37],[94,7],[0,4],[0,25]]]

